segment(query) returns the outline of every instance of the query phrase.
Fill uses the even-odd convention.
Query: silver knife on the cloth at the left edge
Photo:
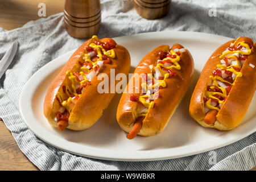
[[[13,61],[13,58],[15,56],[15,53],[18,48],[18,41],[15,40],[13,43],[13,46],[5,53],[5,56],[0,61],[0,78],[3,76],[3,73],[5,73],[6,69],[11,64],[11,61]]]

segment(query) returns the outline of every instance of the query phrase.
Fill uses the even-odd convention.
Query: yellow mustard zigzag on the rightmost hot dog
[[[240,37],[239,37],[239,38],[240,38]],[[237,38],[237,40],[238,40],[239,38]],[[237,40],[233,43],[233,46],[236,44]],[[228,70],[228,71],[230,71],[230,72],[232,72],[232,73],[234,73],[234,74],[237,75],[236,78],[235,78],[235,80],[233,81],[233,83],[230,83],[229,81],[224,80],[222,77],[219,77],[219,76],[212,76],[212,75],[211,75],[211,76],[210,76],[210,79],[214,82],[214,85],[216,85],[216,86],[222,91],[222,93],[220,93],[220,92],[210,92],[210,91],[208,91],[208,90],[205,91],[205,96],[207,96],[207,97],[209,97],[209,98],[216,99],[219,104],[223,104],[224,101],[221,101],[219,98],[214,97],[214,95],[217,94],[217,95],[219,95],[219,96],[225,98],[225,97],[227,96],[227,93],[226,93],[226,89],[225,89],[225,88],[222,88],[221,86],[218,85],[217,80],[218,80],[218,81],[221,81],[221,82],[226,82],[226,83],[228,83],[228,84],[230,84],[230,85],[233,86],[233,85],[234,85],[234,82],[235,82],[236,79],[237,79],[237,77],[242,77],[242,73],[241,73],[241,72],[237,72],[234,68],[231,68],[231,67],[240,68],[240,61],[238,60],[237,56],[235,56],[235,55],[227,56],[227,55],[230,55],[230,54],[233,54],[233,53],[240,53],[241,55],[250,55],[250,53],[251,53],[251,49],[250,49],[249,45],[246,44],[244,41],[239,42],[238,45],[241,45],[242,47],[245,47],[245,48],[247,49],[247,52],[243,52],[243,51],[241,51],[241,50],[236,50],[236,51],[230,51],[230,50],[228,50],[228,51],[224,51],[224,52],[222,53],[222,55],[220,56],[220,59],[222,59],[222,58],[224,58],[224,57],[226,57],[227,59],[231,59],[231,58],[235,59],[235,60],[237,61],[237,65],[224,66],[224,65],[221,65],[221,64],[217,64],[217,68],[226,69],[226,70]],[[210,88],[213,89],[214,86],[211,86]],[[220,109],[218,109],[218,107],[214,107],[214,106],[210,105],[210,102],[211,102],[211,101],[212,101],[212,100],[209,99],[207,102],[205,102],[205,105],[206,105],[209,109],[214,109],[214,110],[219,111]]]

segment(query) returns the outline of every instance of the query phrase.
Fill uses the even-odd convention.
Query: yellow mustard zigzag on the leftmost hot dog
[[[96,39],[97,41],[99,40],[96,35],[93,35],[92,38]],[[82,59],[83,59],[84,61],[87,61],[88,63],[92,64],[92,65],[93,65],[93,69],[96,67],[98,61],[102,61],[102,60],[103,60],[103,59],[102,59],[102,53],[101,53],[101,51],[104,53],[104,55],[106,55],[106,56],[108,56],[108,57],[110,57],[110,58],[115,58],[114,49],[110,49],[109,51],[106,51],[102,46],[96,45],[96,44],[94,44],[94,43],[91,43],[91,44],[89,45],[89,47],[92,47],[92,48],[95,48],[95,49],[96,49],[96,51],[97,51],[97,55],[96,55],[96,56],[98,56],[98,59],[97,59],[95,62],[93,62],[93,61],[90,59],[90,56],[88,55],[88,53],[84,53],[84,55],[82,56]],[[79,65],[77,65],[77,64],[75,64],[75,66],[76,66],[76,67],[79,67]],[[73,73],[72,73],[71,71],[67,71],[67,72],[66,72],[66,75],[68,76],[68,79],[71,81],[71,88],[70,88],[70,86],[68,86],[67,83],[64,84],[64,86],[65,86],[65,93],[67,94],[68,99],[65,100],[65,101],[63,101],[63,99],[61,98],[60,92],[57,92],[57,95],[56,95],[57,98],[58,98],[59,101],[60,101],[60,104],[61,104],[63,107],[65,107],[65,109],[67,109],[67,111],[68,111],[69,113],[71,113],[71,110],[72,110],[72,109],[71,109],[71,100],[72,100],[72,97],[71,97],[71,95],[69,94],[69,92],[72,93],[72,94],[74,94],[75,96],[81,96],[81,94],[77,94],[77,92],[76,92],[75,83],[79,83],[80,85],[82,85],[82,84],[85,84],[86,82],[89,81],[88,78],[86,78],[84,72],[88,73],[90,70],[89,70],[88,68],[86,68],[86,67],[81,67],[81,66],[80,66],[79,69],[80,69],[80,72],[79,72],[80,75],[84,78],[84,80],[82,80],[82,81],[80,81],[80,82],[77,81],[76,77],[73,75]],[[69,91],[69,92],[68,92],[68,91]]]

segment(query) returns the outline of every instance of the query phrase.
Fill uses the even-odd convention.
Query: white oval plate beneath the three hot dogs
[[[23,88],[19,101],[20,111],[27,126],[37,137],[61,150],[89,158],[145,161],[199,154],[236,142],[256,131],[255,97],[242,124],[232,131],[221,132],[201,127],[188,114],[189,100],[201,69],[212,52],[231,38],[198,32],[150,32],[114,40],[130,52],[130,73],[133,73],[146,53],[161,44],[172,46],[180,43],[191,52],[195,61],[195,76],[166,129],[152,137],[126,139],[126,133],[115,119],[121,94],[114,97],[102,117],[85,131],[64,130],[60,133],[51,127],[43,114],[44,97],[51,81],[73,50],[44,65]]]

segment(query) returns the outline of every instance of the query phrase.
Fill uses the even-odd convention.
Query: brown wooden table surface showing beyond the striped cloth
[[[38,4],[46,4],[46,16],[63,11],[64,0],[1,0],[0,27],[13,30],[38,16]],[[0,118],[0,170],[38,170],[20,151],[10,131]],[[256,171],[256,167],[253,168]]]

